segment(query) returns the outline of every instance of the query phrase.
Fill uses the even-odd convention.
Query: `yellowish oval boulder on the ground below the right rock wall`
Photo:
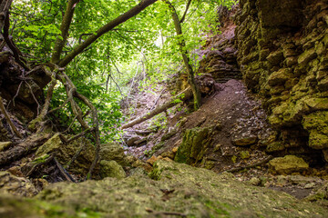
[[[302,173],[309,168],[309,164],[304,162],[301,157],[286,155],[284,157],[273,158],[269,162],[269,170],[272,173],[289,174]]]

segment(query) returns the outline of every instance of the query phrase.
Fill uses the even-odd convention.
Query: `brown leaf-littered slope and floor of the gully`
[[[206,161],[192,165],[210,168],[216,173],[231,171],[240,181],[289,193],[298,199],[307,197],[327,183],[328,173],[324,167],[309,168],[290,175],[272,173],[268,167],[272,156],[265,152],[266,144],[263,142],[274,131],[266,122],[261,101],[248,93],[241,81],[230,80],[225,84],[215,85],[216,91],[203,97],[202,105],[196,112],[191,112],[187,104],[180,104],[167,113],[128,128],[126,142],[131,137],[138,137],[141,143],[126,144],[126,153],[144,161],[150,160],[149,163],[158,158],[174,159],[172,151],[181,144],[186,130],[214,126],[216,130],[208,138],[210,146],[202,158]],[[158,104],[167,101],[170,95],[162,92],[164,88],[165,86],[159,88],[155,94],[136,94],[133,99],[138,103],[138,109],[134,117],[146,114],[153,108],[156,100],[159,101]],[[154,129],[156,131],[148,135],[137,134]],[[236,145],[236,142],[250,140],[252,137],[257,138],[256,143]],[[252,164],[256,166],[248,168]]]

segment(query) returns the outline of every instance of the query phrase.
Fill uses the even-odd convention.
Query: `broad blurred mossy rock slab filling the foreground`
[[[190,165],[158,161],[151,178],[136,174],[55,183],[33,201],[0,196],[3,217],[325,217],[327,209],[291,195]],[[26,206],[28,205],[28,206]],[[18,213],[19,212],[19,213]]]

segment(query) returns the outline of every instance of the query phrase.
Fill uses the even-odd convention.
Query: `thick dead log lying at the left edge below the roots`
[[[26,154],[30,154],[35,149],[46,142],[50,134],[32,134],[25,142],[16,144],[12,149],[0,153],[0,165],[12,163]]]

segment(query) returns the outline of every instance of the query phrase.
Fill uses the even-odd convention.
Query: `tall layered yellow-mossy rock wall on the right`
[[[235,17],[243,80],[260,94],[285,154],[327,161],[328,4],[241,0]],[[277,144],[276,144],[277,145]]]

